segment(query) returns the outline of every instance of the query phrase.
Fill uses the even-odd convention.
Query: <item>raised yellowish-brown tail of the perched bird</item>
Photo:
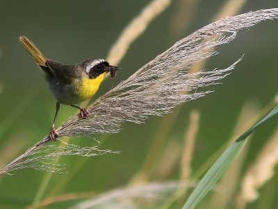
[[[35,59],[35,62],[40,65],[44,66],[45,62],[47,59],[43,56],[42,52],[38,49],[38,47],[35,46],[35,44],[31,41],[28,40],[25,36],[20,36],[19,37],[19,42],[22,43],[24,48],[33,56],[33,59]]]

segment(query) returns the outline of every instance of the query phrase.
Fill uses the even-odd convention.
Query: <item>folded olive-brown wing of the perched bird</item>
[[[75,65],[63,65],[50,59],[47,59],[45,64],[51,74],[63,84],[72,84],[81,77],[81,72],[79,72]]]

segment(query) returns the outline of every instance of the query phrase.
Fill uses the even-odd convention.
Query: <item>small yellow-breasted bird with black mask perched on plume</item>
[[[115,77],[117,70],[120,70],[116,66],[109,65],[104,59],[88,59],[76,65],[64,65],[45,58],[38,47],[25,36],[20,36],[19,42],[33,56],[35,62],[44,72],[50,91],[57,100],[56,113],[49,134],[51,140],[56,140],[58,137],[54,123],[60,109],[60,103],[80,109],[81,117],[86,118],[88,116],[87,109],[75,104],[95,95],[106,73],[110,72],[111,77]]]

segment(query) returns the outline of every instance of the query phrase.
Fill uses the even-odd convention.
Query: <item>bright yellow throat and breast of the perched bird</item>
[[[83,79],[82,82],[80,83],[80,86],[77,88],[79,99],[88,100],[88,98],[91,98],[93,95],[95,95],[95,93],[99,89],[99,85],[104,79],[105,74],[106,73],[103,73],[95,79],[89,79],[89,78]]]

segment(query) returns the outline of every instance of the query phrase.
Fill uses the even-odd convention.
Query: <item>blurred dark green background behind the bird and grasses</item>
[[[145,0],[0,1],[1,164],[13,160],[13,157],[42,139],[49,132],[55,111],[56,101],[44,82],[42,73],[20,45],[19,36],[31,38],[45,56],[63,63],[74,64],[90,58],[105,58],[122,29],[147,3],[149,1]],[[119,64],[122,70],[116,79],[106,79],[94,98],[132,75],[177,40],[210,23],[225,1],[197,1],[186,30],[174,28],[174,17],[180,3],[180,0],[172,1],[170,7],[133,42]],[[277,0],[252,0],[245,3],[240,13],[274,7],[278,7]],[[277,34],[277,20],[262,22],[240,31],[234,42],[218,48],[220,54],[206,63],[206,69],[225,68],[245,54],[236,70],[222,81],[223,84],[210,87],[214,93],[183,104],[177,121],[165,136],[167,140],[182,141],[190,111],[198,109],[201,112],[193,171],[227,142],[245,102],[252,100],[263,107],[277,94]],[[72,107],[62,105],[56,125],[75,113],[76,110]],[[161,117],[152,117],[144,125],[126,123],[118,134],[95,136],[101,142],[102,149],[119,150],[121,153],[85,159],[85,164],[78,171],[74,169],[82,157],[63,157],[62,162],[67,164],[67,173],[54,173],[51,176],[43,199],[66,193],[105,192],[126,185],[140,170],[162,120]],[[264,140],[270,137],[275,127],[277,117],[254,134],[245,160],[246,165],[258,155]],[[97,145],[93,137],[74,138],[71,142],[82,145],[88,144],[88,141],[91,145]],[[73,172],[76,174],[70,178]],[[0,208],[23,208],[30,205],[46,175],[44,171],[33,169],[12,173],[15,175],[0,178]],[[176,165],[171,175],[165,179],[177,179],[178,174],[179,167]],[[51,189],[56,188],[65,178],[70,178],[67,184],[53,192]],[[152,180],[160,179],[152,176]],[[277,172],[272,181],[277,183]],[[277,187],[273,192],[278,192]],[[258,201],[250,208],[257,206],[259,207]],[[271,203],[271,208],[278,208],[277,199]]]

